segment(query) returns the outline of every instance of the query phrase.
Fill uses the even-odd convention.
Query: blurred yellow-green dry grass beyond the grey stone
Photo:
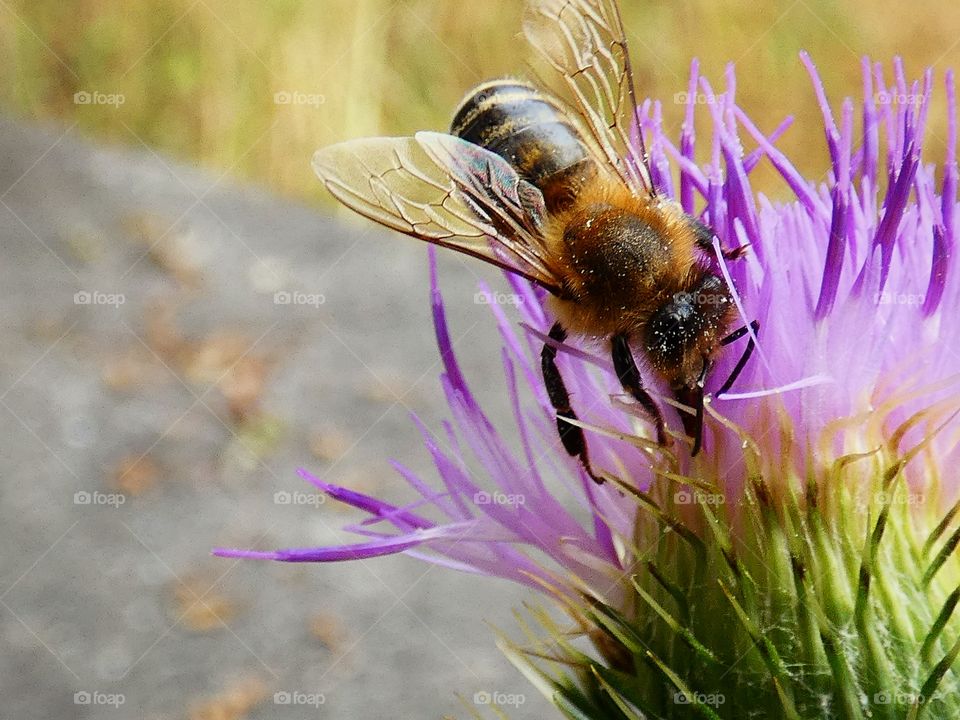
[[[319,198],[313,150],[348,137],[442,129],[465,90],[523,72],[520,2],[453,0],[16,0],[0,3],[0,103],[86,132]],[[902,55],[916,76],[960,67],[960,5],[897,0],[623,0],[639,92],[680,108],[690,59],[722,86],[735,62],[741,103],[806,172],[825,168],[806,49],[834,99],[860,90],[859,58]],[[78,105],[80,91],[120,93],[117,107]],[[313,104],[277,104],[278,92]],[[309,97],[307,97],[309,96]],[[322,103],[321,103],[322,100]],[[930,158],[946,134],[942,85]],[[706,113],[704,113],[706,115]],[[778,192],[772,173],[758,178]]]

